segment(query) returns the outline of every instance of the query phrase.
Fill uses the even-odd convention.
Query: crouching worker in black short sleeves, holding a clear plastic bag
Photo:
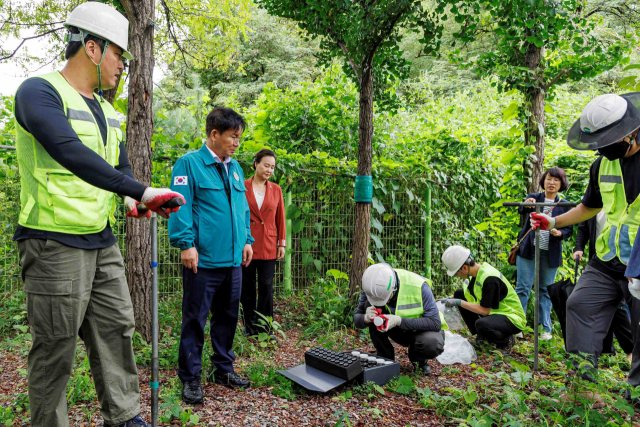
[[[447,307],[458,307],[476,344],[493,344],[503,352],[511,351],[514,335],[526,327],[526,317],[518,295],[509,281],[488,263],[479,264],[471,251],[451,246],[442,254],[449,276],[465,279],[462,289],[442,300]]]

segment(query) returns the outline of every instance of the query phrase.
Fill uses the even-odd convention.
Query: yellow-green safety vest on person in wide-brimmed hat
[[[627,204],[620,160],[602,158],[598,184],[607,223],[596,240],[596,254],[603,261],[617,256],[626,265],[640,226],[640,196]]]

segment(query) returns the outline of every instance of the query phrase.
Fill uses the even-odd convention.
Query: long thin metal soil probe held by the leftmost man
[[[171,199],[171,200],[175,200]],[[171,200],[169,202],[171,202]],[[182,199],[179,199],[182,202]],[[182,203],[181,203],[182,204]],[[179,205],[178,205],[179,206]],[[151,213],[151,425],[158,427],[158,215]]]

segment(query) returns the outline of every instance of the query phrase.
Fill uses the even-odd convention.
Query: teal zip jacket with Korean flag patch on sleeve
[[[217,160],[206,146],[185,154],[173,167],[171,189],[187,202],[169,218],[169,241],[181,250],[198,250],[198,267],[238,267],[244,246],[253,244],[244,174],[231,159],[228,183],[215,166]],[[224,166],[222,167],[223,175]]]

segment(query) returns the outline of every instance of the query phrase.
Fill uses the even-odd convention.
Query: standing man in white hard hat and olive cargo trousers
[[[134,313],[112,227],[116,195],[163,217],[179,193],[134,180],[119,117],[102,98],[124,69],[128,21],[83,3],[69,15],[62,71],[26,80],[15,97],[20,252],[33,345],[28,357],[34,427],[67,427],[66,386],[84,339],[105,426],[142,427],[132,347]],[[99,93],[95,94],[94,90]],[[183,199],[184,200],[184,199]],[[144,243],[141,243],[144,244]]]

